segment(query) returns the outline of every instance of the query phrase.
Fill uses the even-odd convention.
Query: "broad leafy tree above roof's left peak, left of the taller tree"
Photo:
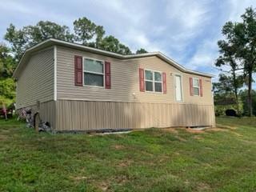
[[[57,38],[73,42],[74,34],[70,34],[68,26],[60,26],[55,22],[38,22],[35,26],[24,26],[17,30],[13,24],[7,28],[6,41],[10,42],[14,57],[22,58],[25,50],[48,38]]]

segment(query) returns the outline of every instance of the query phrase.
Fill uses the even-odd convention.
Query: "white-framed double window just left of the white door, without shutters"
[[[146,91],[162,93],[162,73],[158,71],[145,70]]]

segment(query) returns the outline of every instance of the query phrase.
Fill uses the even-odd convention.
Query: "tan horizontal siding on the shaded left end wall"
[[[54,49],[33,54],[17,81],[18,109],[54,100]]]

